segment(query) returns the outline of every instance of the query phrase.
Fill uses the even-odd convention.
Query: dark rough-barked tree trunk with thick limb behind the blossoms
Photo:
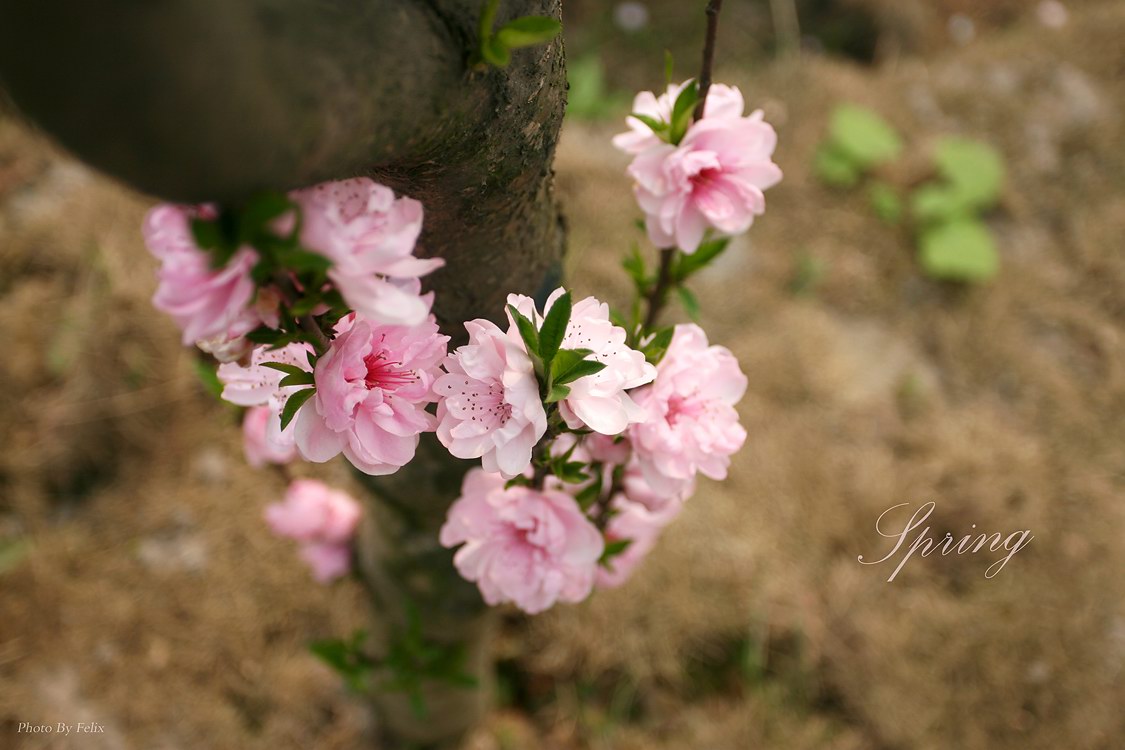
[[[551,162],[566,98],[562,43],[470,71],[478,0],[0,0],[0,89],[93,166],[165,200],[237,202],[266,188],[369,174],[420,199],[434,311],[502,316],[549,288],[565,227]],[[505,0],[498,22],[560,15]],[[464,641],[477,690],[430,686],[430,717],[377,696],[389,742],[451,746],[487,705],[492,620],[438,546],[467,464],[424,440],[372,501],[359,559],[376,634],[405,600],[439,642]],[[378,639],[377,639],[378,641]],[[378,643],[377,643],[378,645]]]

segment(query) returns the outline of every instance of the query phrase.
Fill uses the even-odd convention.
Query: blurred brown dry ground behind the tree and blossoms
[[[508,618],[470,747],[1125,747],[1125,6],[807,0],[776,35],[792,3],[726,4],[718,78],[777,126],[785,172],[696,283],[750,437],[629,585]],[[696,6],[567,2],[579,292],[626,299],[640,236],[609,138],[664,48],[694,72]],[[992,282],[927,279],[862,191],[817,181],[842,101],[904,135],[908,173],[940,135],[1002,153]],[[305,650],[363,603],[262,524],[279,480],[148,305],[150,202],[0,119],[0,747],[370,746]],[[986,553],[892,584],[856,562],[885,550],[882,510],[925,500],[938,536],[1035,540],[990,580]]]

